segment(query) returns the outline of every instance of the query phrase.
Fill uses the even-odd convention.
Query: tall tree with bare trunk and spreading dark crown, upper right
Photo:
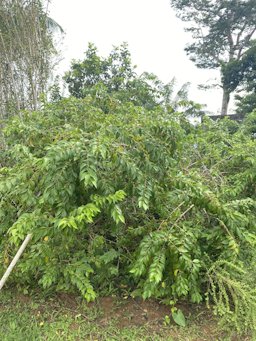
[[[250,49],[256,32],[255,0],[170,0],[177,16],[188,23],[193,42],[186,47],[199,68],[220,69],[226,115],[230,94],[239,83],[227,77],[229,65],[240,61]]]

